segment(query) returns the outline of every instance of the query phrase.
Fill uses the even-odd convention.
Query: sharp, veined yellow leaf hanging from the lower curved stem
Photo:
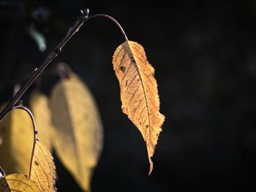
[[[42,191],[56,191],[56,172],[53,157],[42,144],[37,141],[31,166],[31,180],[37,184]]]

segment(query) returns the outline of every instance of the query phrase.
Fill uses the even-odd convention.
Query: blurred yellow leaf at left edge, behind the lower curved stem
[[[4,171],[29,175],[34,133],[27,112],[12,110],[0,123],[0,138],[0,164]]]

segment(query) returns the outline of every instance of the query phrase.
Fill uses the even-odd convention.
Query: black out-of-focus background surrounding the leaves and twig
[[[111,64],[124,39],[109,20],[89,20],[48,67],[41,86],[49,93],[54,64],[64,61],[94,93],[105,140],[92,191],[256,191],[256,2],[168,3],[0,1],[0,100],[10,99],[13,85],[42,63],[80,8],[112,15],[145,47],[166,120],[148,177],[146,145],[121,112]],[[45,52],[26,31],[31,23],[47,39]],[[79,191],[56,162],[59,191]]]

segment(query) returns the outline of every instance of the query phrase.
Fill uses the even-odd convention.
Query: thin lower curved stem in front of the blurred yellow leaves
[[[34,149],[36,147],[37,141],[39,140],[37,138],[37,124],[36,124],[36,120],[34,120],[33,114],[31,113],[31,111],[28,108],[22,107],[22,106],[17,106],[17,107],[14,107],[14,110],[16,110],[16,109],[17,110],[24,110],[24,111],[26,111],[29,114],[29,116],[30,116],[30,118],[32,120],[32,124],[33,124],[34,142],[33,142],[31,158],[30,158],[30,166],[29,166],[29,178],[30,178],[30,176],[31,176],[31,167],[32,167],[32,163],[33,163],[32,161],[33,161],[33,157],[34,157]]]

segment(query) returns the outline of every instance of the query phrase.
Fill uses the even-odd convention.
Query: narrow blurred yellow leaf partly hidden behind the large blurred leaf
[[[37,122],[38,137],[51,150],[51,139],[53,139],[53,123],[51,123],[51,112],[48,106],[48,98],[39,91],[31,94],[29,106]]]

